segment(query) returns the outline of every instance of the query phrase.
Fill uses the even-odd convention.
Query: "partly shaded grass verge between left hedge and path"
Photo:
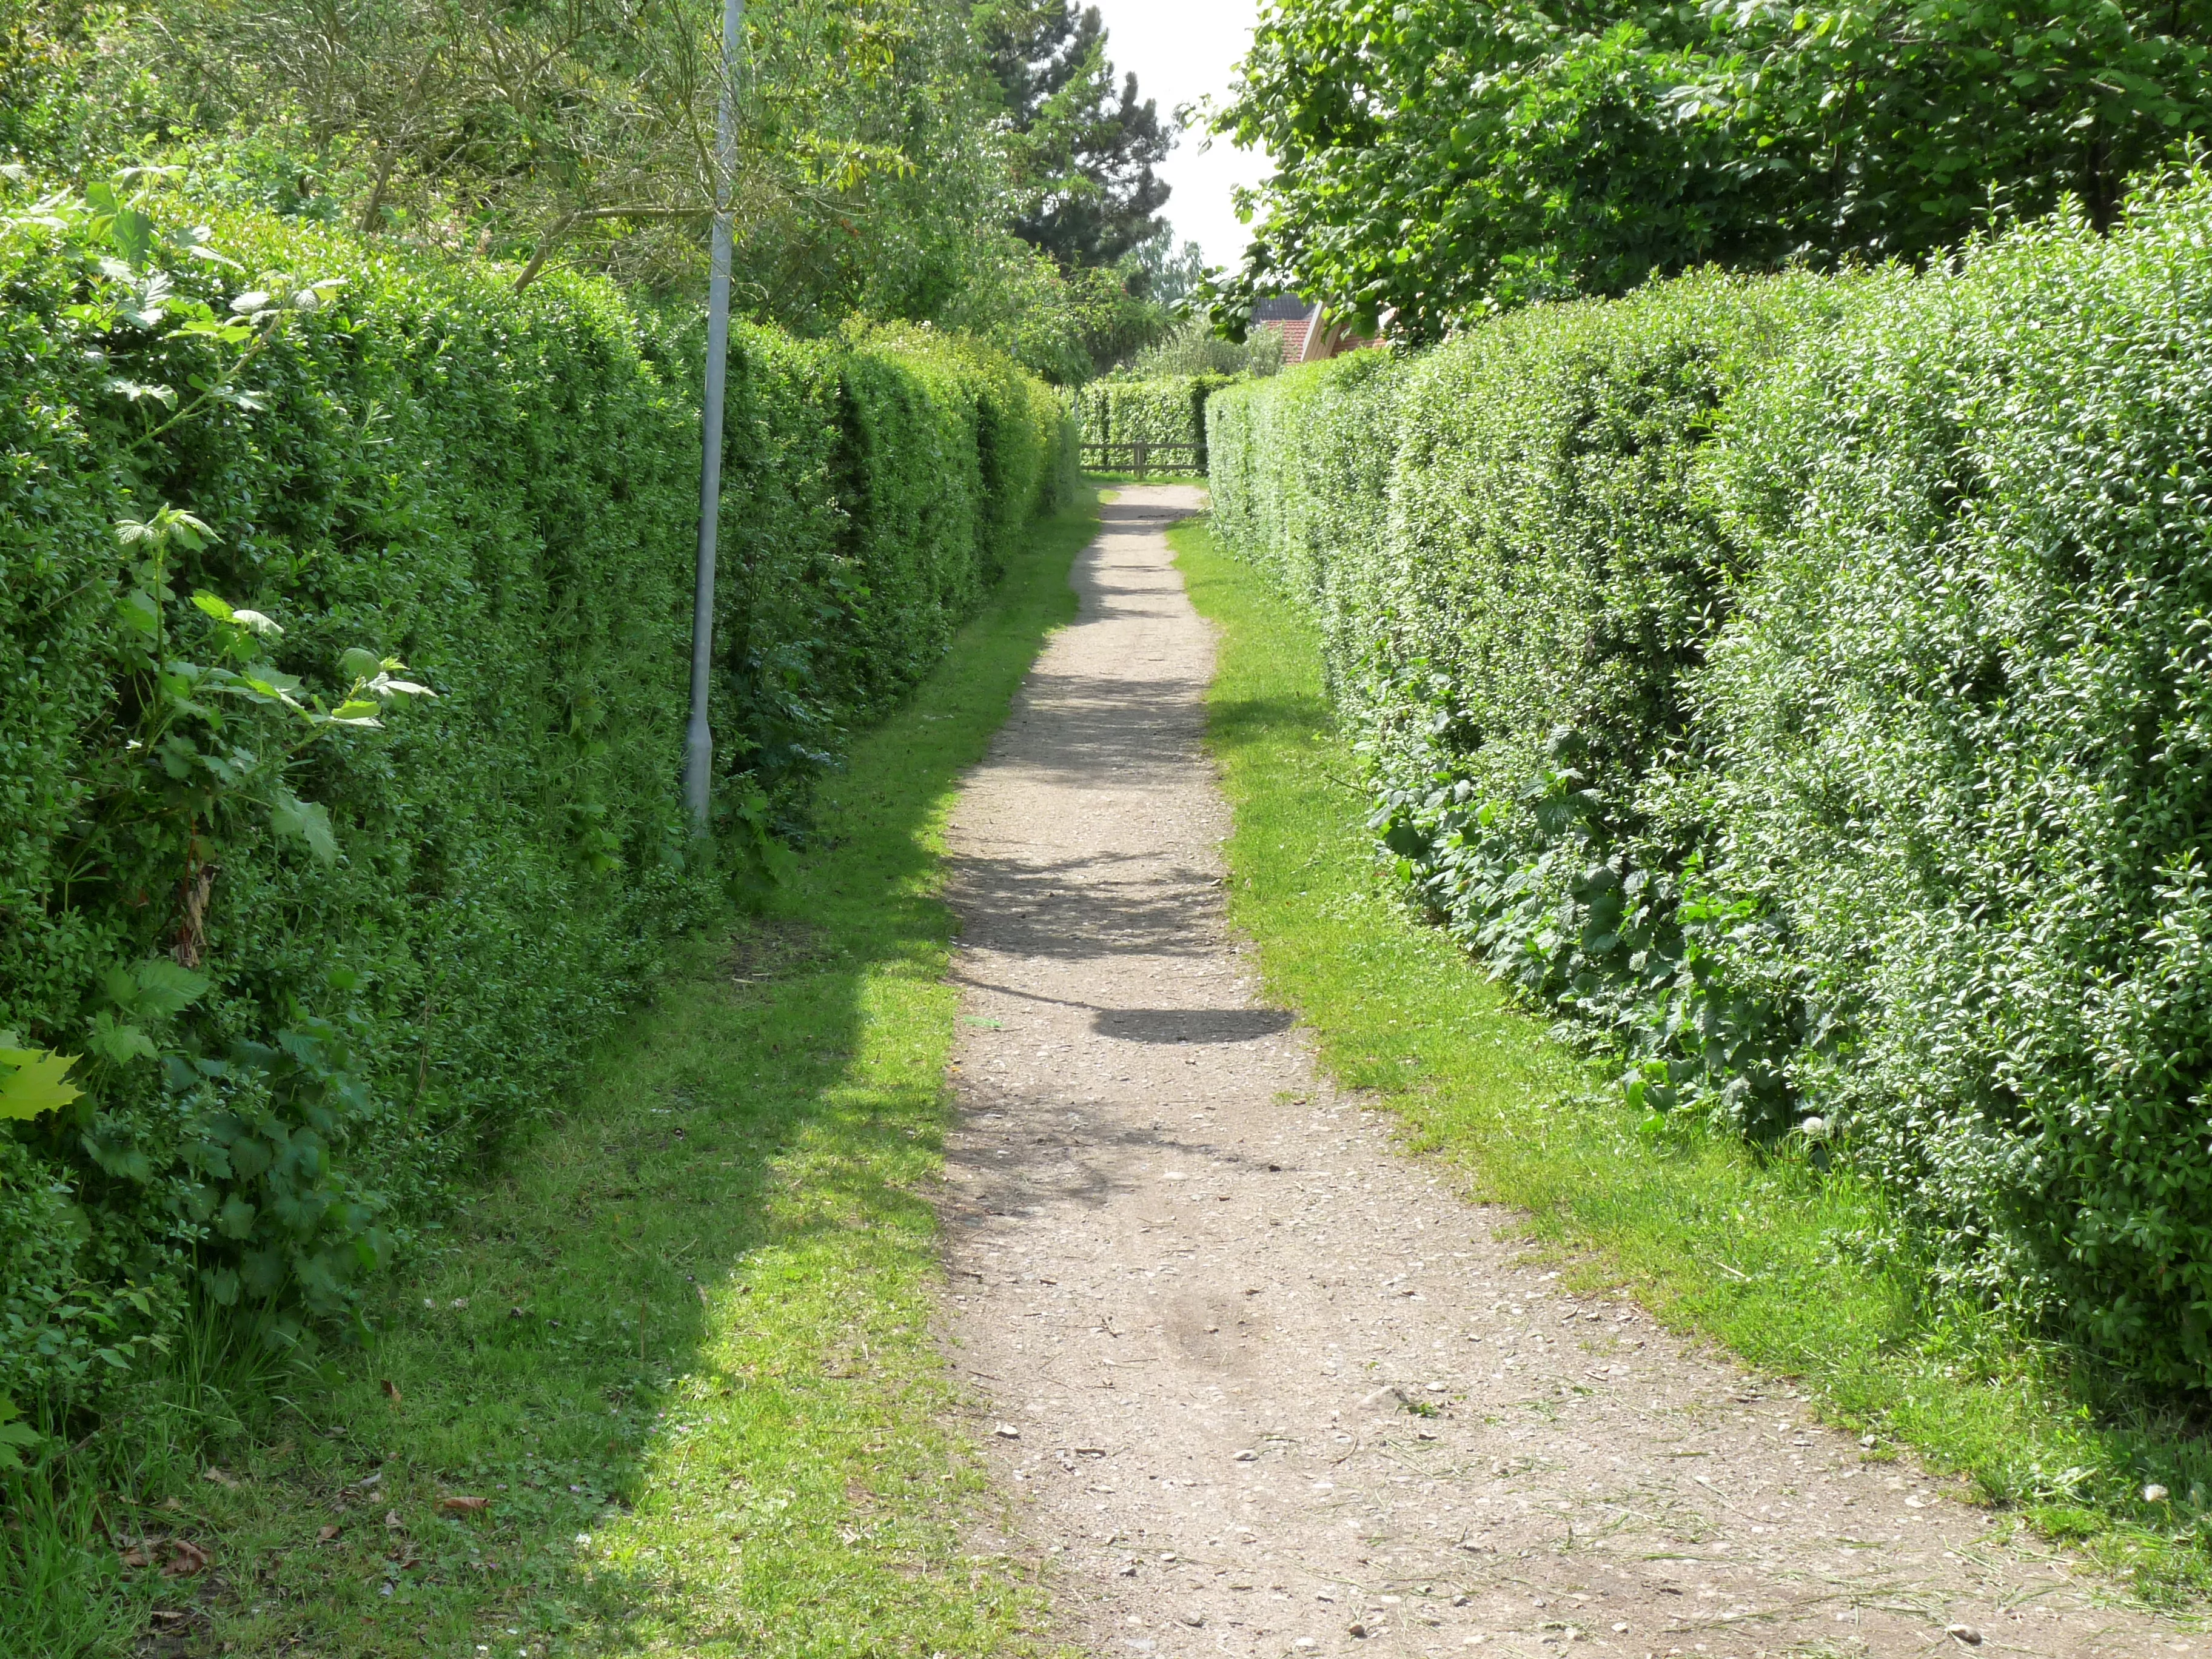
[[[936,891],[958,776],[1073,615],[1095,522],[1040,529],[823,790],[768,914],[684,947],[564,1119],[392,1283],[372,1347],[257,1376],[221,1332],[184,1345],[60,1486],[97,1513],[0,1548],[0,1652],[1044,1646],[1035,1566],[967,1553],[989,1500],[929,1334],[956,1022]],[[71,1531],[124,1548],[31,1548]]]

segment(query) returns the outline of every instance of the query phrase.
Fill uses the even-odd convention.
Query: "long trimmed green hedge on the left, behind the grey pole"
[[[192,1283],[345,1314],[1073,476],[984,349],[734,332],[708,858],[697,325],[139,206],[0,197],[0,1108],[40,1051],[84,1088],[0,1126],[15,1400],[95,1398]]]

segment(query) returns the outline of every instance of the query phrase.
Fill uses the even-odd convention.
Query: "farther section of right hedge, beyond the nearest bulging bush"
[[[1787,1121],[1776,1015],[1703,995],[1710,933],[1743,918],[1699,909],[1692,849],[1655,841],[1641,794],[1736,566],[1699,449],[1838,299],[1701,274],[1292,372],[1217,416],[1223,529],[1316,608],[1420,902],[1632,1062],[1663,1053],[1655,1106],[1692,1095],[1754,1133]]]

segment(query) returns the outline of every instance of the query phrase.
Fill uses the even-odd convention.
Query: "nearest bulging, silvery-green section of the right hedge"
[[[1947,1279],[2212,1380],[2212,186],[1887,283],[1730,411],[1761,580],[1659,805]],[[1832,1048],[1832,1053],[1827,1053]]]

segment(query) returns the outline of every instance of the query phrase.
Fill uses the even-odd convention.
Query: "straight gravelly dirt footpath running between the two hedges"
[[[1223,927],[1212,639],[1128,489],[953,823],[953,1363],[1093,1655],[2166,1655],[1316,1082]]]

